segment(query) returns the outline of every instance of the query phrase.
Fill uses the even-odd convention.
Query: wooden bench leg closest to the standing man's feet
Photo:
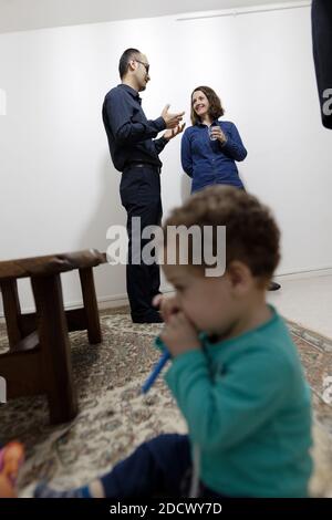
[[[80,269],[80,279],[86,316],[89,343],[101,343],[102,332],[92,268]]]

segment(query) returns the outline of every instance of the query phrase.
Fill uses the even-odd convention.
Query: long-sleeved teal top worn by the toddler
[[[177,356],[165,379],[200,451],[200,480],[230,497],[307,497],[311,398],[283,320]],[[167,345],[166,345],[167,346]]]

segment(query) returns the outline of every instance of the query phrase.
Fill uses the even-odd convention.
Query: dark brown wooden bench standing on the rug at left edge
[[[104,262],[105,254],[94,249],[0,262],[9,342],[9,351],[0,355],[0,376],[8,398],[45,393],[51,424],[77,414],[68,332],[87,330],[90,343],[102,341],[93,268]],[[60,274],[75,269],[84,306],[65,311]],[[31,279],[34,313],[21,313],[19,278]]]

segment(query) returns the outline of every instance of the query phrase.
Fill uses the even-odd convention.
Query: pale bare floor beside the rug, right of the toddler
[[[282,287],[269,293],[269,301],[280,314],[332,339],[332,274],[276,281]]]

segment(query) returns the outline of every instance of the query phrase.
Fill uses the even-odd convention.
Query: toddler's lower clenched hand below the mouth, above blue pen
[[[173,357],[200,349],[198,332],[181,311],[168,318],[160,339]]]

